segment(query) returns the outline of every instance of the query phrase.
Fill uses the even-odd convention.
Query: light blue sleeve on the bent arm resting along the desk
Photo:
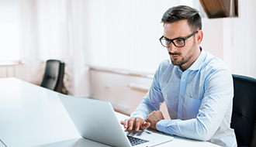
[[[204,86],[205,94],[196,118],[161,120],[157,122],[157,130],[184,138],[209,140],[220,127],[233,100],[232,76],[227,70],[216,70],[206,77]]]

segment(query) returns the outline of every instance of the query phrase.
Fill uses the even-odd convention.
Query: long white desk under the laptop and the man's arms
[[[81,138],[57,92],[16,78],[0,79],[0,139],[12,146],[107,146]],[[116,113],[119,120],[126,115]],[[0,142],[0,147],[5,146]],[[178,138],[159,146],[217,146]]]

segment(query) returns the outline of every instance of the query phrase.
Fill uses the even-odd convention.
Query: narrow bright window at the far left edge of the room
[[[0,1],[0,62],[20,60],[18,1]]]

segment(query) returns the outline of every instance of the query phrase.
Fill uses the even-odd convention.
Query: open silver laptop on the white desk
[[[126,131],[116,118],[112,105],[107,101],[64,94],[58,96],[83,138],[111,146],[135,147],[159,145],[173,139],[170,135],[150,129],[139,132]]]

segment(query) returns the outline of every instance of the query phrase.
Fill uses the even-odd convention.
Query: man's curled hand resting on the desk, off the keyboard
[[[164,119],[164,116],[161,111],[153,111],[150,115],[147,115],[145,121],[150,122],[150,128],[157,129],[157,122]]]

